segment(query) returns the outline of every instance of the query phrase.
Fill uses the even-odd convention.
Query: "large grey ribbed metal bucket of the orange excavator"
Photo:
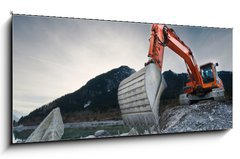
[[[118,88],[124,123],[138,130],[158,128],[160,97],[166,87],[161,71],[153,63],[124,79]]]

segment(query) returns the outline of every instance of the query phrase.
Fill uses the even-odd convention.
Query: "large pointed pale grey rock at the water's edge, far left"
[[[39,124],[26,142],[42,142],[60,140],[64,133],[64,124],[59,108],[53,109]]]

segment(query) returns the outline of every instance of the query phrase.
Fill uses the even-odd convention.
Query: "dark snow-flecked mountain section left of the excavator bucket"
[[[56,107],[60,108],[64,123],[120,118],[117,101],[118,85],[134,72],[135,70],[128,66],[121,66],[103,73],[89,80],[77,91],[64,95],[22,117],[18,124],[39,124]]]

